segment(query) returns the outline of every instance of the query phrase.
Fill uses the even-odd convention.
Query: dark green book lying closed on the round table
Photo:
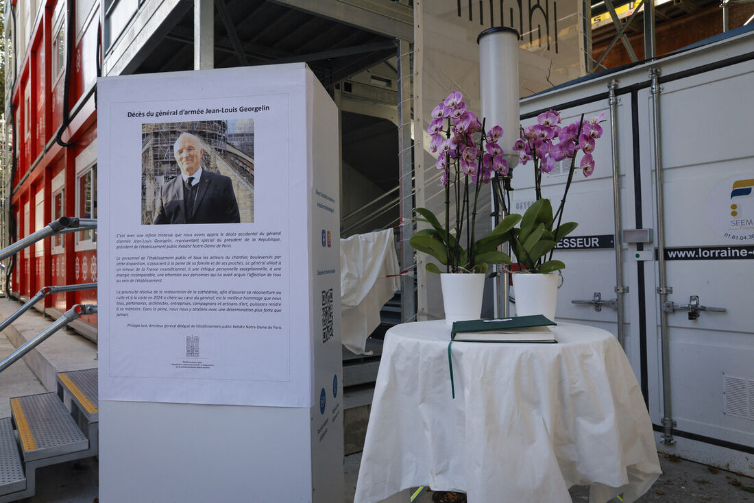
[[[450,338],[459,342],[557,342],[548,325],[556,323],[541,314],[455,321]]]

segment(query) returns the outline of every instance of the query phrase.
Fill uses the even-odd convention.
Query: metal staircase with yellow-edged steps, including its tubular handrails
[[[53,235],[97,228],[97,220],[66,216],[0,250],[0,260]],[[36,302],[51,293],[97,288],[97,284],[43,287],[0,324],[0,331]],[[37,336],[20,345],[0,362],[10,367],[57,330],[84,314],[96,314],[96,305],[74,305]],[[37,468],[97,455],[99,414],[97,369],[57,373],[57,393],[11,398],[10,418],[0,418],[0,503],[35,494]]]

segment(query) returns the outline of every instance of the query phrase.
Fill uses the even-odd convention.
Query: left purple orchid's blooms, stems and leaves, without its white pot
[[[495,176],[505,176],[510,168],[498,140],[500,126],[485,130],[485,124],[466,108],[463,95],[452,91],[432,110],[428,128],[432,140],[430,152],[437,154],[435,166],[442,172],[440,185],[445,191],[445,225],[427,208],[416,208],[416,219],[431,228],[415,233],[409,243],[428,253],[445,266],[445,272],[486,272],[489,264],[510,264],[510,256],[498,250],[509,239],[520,215],[509,215],[489,235],[475,237],[477,202],[480,189]],[[470,196],[473,192],[473,204]],[[450,219],[450,201],[454,201],[455,218]],[[451,225],[452,224],[452,225]],[[434,263],[427,270],[440,274]]]

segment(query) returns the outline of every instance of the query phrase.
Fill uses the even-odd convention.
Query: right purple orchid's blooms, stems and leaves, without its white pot
[[[521,128],[521,136],[513,144],[513,150],[519,152],[521,164],[532,161],[536,201],[524,213],[521,225],[510,230],[508,241],[523,271],[546,273],[566,268],[565,263],[552,258],[558,241],[573,232],[578,225],[576,222],[561,224],[566,196],[571,188],[575,170],[581,169],[584,176],[590,176],[594,172],[592,153],[596,140],[602,136],[602,126],[599,123],[604,117],[605,114],[602,113],[589,121],[584,121],[584,115],[581,115],[578,121],[561,126],[560,113],[550,110],[538,115],[537,124],[534,126]],[[577,167],[576,158],[579,151],[583,155]],[[566,188],[558,210],[553,215],[550,200],[542,197],[542,173],[550,173],[556,162],[566,158],[571,159]],[[510,207],[510,177],[502,181],[505,186],[498,186],[495,195],[498,204],[506,210]],[[506,195],[507,201],[504,197]],[[553,225],[556,220],[557,224]]]

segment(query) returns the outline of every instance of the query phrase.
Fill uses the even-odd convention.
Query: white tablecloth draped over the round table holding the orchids
[[[634,501],[661,474],[639,384],[615,337],[553,327],[559,344],[453,342],[445,321],[385,336],[355,503],[409,487],[469,503]]]

